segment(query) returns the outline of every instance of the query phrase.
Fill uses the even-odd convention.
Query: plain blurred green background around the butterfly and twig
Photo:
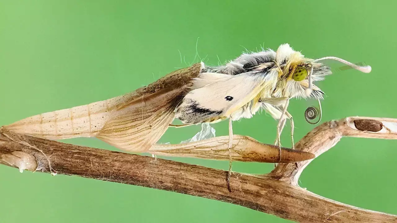
[[[245,48],[288,42],[309,58],[365,62],[372,73],[336,70],[318,85],[328,95],[323,121],[346,116],[396,117],[396,1],[4,1],[0,2],[0,125],[135,90],[181,67],[224,63]],[[198,38],[199,37],[199,38]],[[198,42],[197,42],[198,39]],[[197,51],[196,51],[197,44]],[[196,58],[196,60],[194,60]],[[204,59],[205,58],[205,59]],[[219,58],[219,59],[218,59]],[[295,140],[310,131],[293,100]],[[213,125],[227,135],[227,122]],[[178,143],[200,126],[170,129]],[[276,121],[258,114],[234,133],[272,143]],[[282,136],[289,146],[289,127]],[[116,150],[95,138],[65,140]],[[300,185],[339,202],[397,214],[397,142],[343,138],[303,172]],[[227,169],[227,161],[172,158]],[[272,164],[234,162],[266,173]],[[0,166],[0,222],[289,222],[248,208],[177,194]],[[288,205],[288,204],[285,204]]]

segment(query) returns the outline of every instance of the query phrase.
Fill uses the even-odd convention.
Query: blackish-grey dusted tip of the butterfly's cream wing
[[[222,119],[220,115],[223,113],[222,110],[211,110],[210,108],[204,108],[200,104],[187,98],[176,109],[175,118],[182,121],[185,124],[196,124],[202,122],[213,122],[218,119]]]

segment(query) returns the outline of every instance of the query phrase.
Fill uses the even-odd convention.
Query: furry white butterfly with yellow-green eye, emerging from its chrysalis
[[[276,52],[251,52],[224,66],[205,69],[193,81],[191,90],[177,107],[175,117],[186,124],[218,122],[229,118],[230,149],[232,121],[251,118],[260,108],[264,108],[279,120],[276,142],[280,150],[284,120],[291,120],[291,140],[294,146],[293,119],[287,112],[289,100],[323,99],[324,92],[312,82],[321,81],[324,76],[331,74],[330,67],[319,62],[326,59],[337,60],[365,73],[371,71],[370,66],[357,66],[336,57],[317,60],[304,58],[289,44],[283,44]],[[231,165],[229,178],[230,175]]]

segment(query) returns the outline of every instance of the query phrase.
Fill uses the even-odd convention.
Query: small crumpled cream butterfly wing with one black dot
[[[229,117],[264,87],[264,75],[242,73],[191,90],[176,110],[183,123],[212,122]]]

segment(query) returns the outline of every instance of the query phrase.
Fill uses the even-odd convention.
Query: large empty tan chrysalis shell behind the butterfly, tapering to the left
[[[122,150],[146,151],[172,122],[179,96],[191,87],[201,66],[174,71],[123,96],[35,115],[4,128],[51,140],[96,136]]]

